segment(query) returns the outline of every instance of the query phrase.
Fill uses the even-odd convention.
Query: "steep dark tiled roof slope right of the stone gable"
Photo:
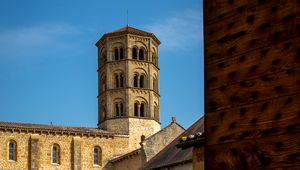
[[[191,127],[185,132],[179,135],[173,142],[167,145],[162,151],[160,151],[155,157],[148,161],[142,169],[157,169],[162,167],[170,167],[176,164],[191,162],[193,156],[193,148],[181,149],[177,148],[180,138],[182,136],[189,136],[197,132],[204,131],[204,117],[197,120]]]

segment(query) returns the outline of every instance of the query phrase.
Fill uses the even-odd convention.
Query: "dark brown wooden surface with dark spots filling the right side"
[[[206,169],[300,168],[299,9],[204,0]]]

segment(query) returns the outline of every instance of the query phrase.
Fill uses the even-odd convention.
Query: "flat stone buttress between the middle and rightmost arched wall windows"
[[[81,170],[81,138],[74,137],[73,138],[73,170]]]

